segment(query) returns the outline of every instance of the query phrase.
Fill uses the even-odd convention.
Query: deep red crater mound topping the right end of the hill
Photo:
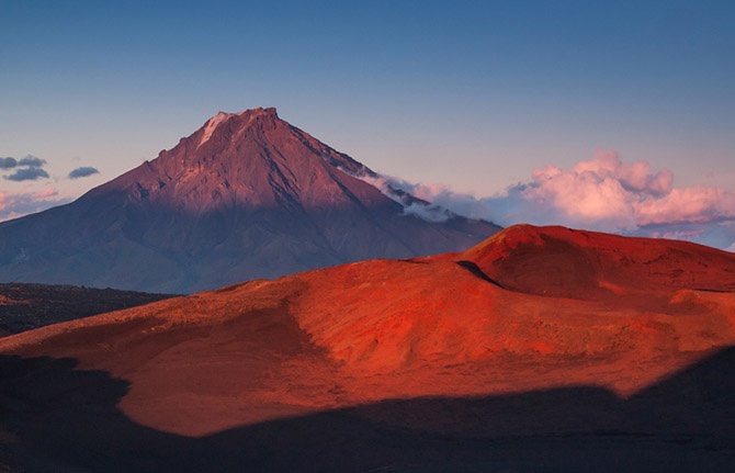
[[[528,294],[604,297],[678,289],[735,292],[733,255],[677,240],[518,225],[463,257],[504,288]]]

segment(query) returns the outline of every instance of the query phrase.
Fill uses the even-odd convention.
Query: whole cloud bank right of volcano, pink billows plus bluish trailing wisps
[[[386,177],[363,180],[386,195],[395,190],[407,192],[433,206],[502,226],[565,225],[690,239],[723,249],[735,244],[735,192],[714,187],[675,188],[671,171],[654,170],[645,161],[625,164],[614,151],[597,150],[592,159],[572,169],[535,169],[528,181],[490,196]]]

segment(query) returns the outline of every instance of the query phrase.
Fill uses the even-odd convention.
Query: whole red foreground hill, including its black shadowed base
[[[0,405],[38,471],[732,471],[734,341],[735,255],[523,225],[4,338]]]

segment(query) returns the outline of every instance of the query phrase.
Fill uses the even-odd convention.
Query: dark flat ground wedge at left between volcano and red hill
[[[76,285],[0,283],[0,337],[173,297]]]

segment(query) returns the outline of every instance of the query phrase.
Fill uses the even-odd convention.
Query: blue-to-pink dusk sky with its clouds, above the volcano
[[[0,221],[279,115],[459,212],[735,250],[732,1],[0,0]]]

